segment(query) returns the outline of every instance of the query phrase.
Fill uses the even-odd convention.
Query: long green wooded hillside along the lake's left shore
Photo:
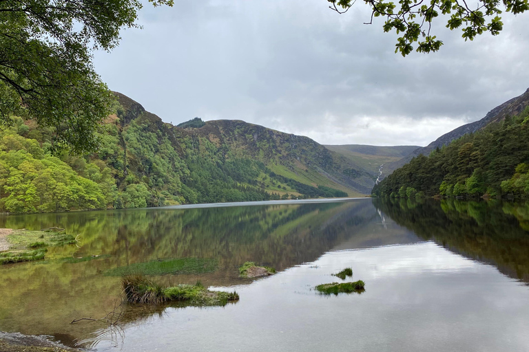
[[[346,197],[373,184],[307,137],[231,120],[172,126],[116,96],[92,155],[52,155],[52,129],[14,118],[0,133],[0,211]]]

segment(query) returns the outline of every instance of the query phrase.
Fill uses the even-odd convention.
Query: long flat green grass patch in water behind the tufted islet
[[[105,276],[125,275],[165,275],[165,274],[202,274],[217,270],[215,259],[180,258],[160,259],[145,263],[134,263],[125,267],[116,267],[105,272]]]

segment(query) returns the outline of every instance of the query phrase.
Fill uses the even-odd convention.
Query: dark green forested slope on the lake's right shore
[[[529,195],[529,107],[413,158],[376,185],[373,195]]]

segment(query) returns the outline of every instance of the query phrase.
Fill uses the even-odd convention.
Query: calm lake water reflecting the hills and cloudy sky
[[[79,247],[0,266],[0,331],[96,351],[529,351],[529,204],[349,199],[0,218],[52,226],[79,234]],[[235,289],[240,301],[117,307],[109,270],[173,258],[216,267],[156,280]],[[278,274],[239,278],[245,261]],[[364,293],[314,291],[344,267]],[[110,311],[124,314],[116,326],[70,324]]]

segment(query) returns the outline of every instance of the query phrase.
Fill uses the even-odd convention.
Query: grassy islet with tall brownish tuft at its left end
[[[161,287],[145,276],[128,275],[122,280],[123,292],[129,303],[160,304],[181,302],[195,307],[225,306],[239,300],[237,292],[209,291],[201,283]]]

